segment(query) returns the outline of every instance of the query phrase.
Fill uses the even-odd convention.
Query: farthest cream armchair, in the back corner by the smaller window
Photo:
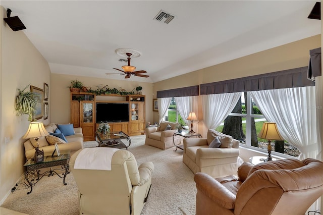
[[[174,147],[173,135],[177,131],[179,123],[161,121],[158,127],[147,127],[145,145],[154,146],[163,150]],[[176,145],[181,144],[184,137],[179,135],[174,137]]]

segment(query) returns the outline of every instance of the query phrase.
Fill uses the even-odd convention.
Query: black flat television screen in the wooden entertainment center
[[[96,103],[96,123],[128,121],[129,103]]]

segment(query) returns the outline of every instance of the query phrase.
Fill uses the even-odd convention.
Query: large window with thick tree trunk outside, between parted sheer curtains
[[[263,122],[267,121],[250,93],[242,92],[231,114],[216,130],[232,136],[246,147],[266,152],[268,141],[257,137]],[[287,141],[272,141],[272,148],[272,154],[279,156],[297,157],[300,154],[300,151]]]

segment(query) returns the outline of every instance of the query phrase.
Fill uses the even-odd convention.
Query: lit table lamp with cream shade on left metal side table
[[[24,139],[34,138],[35,139],[35,163],[43,162],[44,150],[39,150],[39,137],[47,136],[49,133],[44,128],[42,122],[31,122],[26,134],[22,137]]]

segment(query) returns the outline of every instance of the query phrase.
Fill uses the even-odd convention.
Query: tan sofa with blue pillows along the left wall
[[[73,128],[73,124],[51,123],[45,129],[49,135],[38,140],[39,150],[44,150],[44,154],[51,154],[55,150],[55,143],[58,143],[60,151],[70,150],[70,155],[83,148],[82,128]],[[34,141],[34,138],[30,138],[24,142],[27,160],[35,155]]]

